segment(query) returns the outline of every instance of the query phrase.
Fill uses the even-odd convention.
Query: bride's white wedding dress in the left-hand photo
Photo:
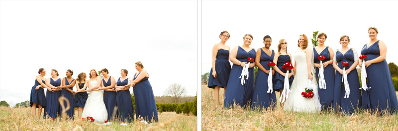
[[[91,86],[97,85],[97,80],[90,81]],[[103,123],[108,120],[108,112],[103,103],[102,90],[91,91],[89,98],[87,98],[86,105],[82,113],[83,118],[93,117],[94,122]]]

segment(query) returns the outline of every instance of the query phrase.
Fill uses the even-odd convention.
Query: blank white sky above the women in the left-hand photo
[[[0,100],[29,100],[41,67],[46,78],[107,68],[117,80],[122,68],[133,77],[137,61],[155,96],[174,82],[195,96],[196,14],[196,0],[1,0]]]

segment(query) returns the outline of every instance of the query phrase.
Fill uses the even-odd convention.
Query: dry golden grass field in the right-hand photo
[[[359,112],[350,116],[325,113],[252,111],[243,108],[216,108],[213,89],[201,86],[203,131],[398,131],[398,115],[373,115]],[[220,103],[223,89],[220,89]],[[277,93],[279,98],[279,93]]]

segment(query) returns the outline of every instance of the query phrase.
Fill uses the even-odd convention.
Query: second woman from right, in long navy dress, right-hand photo
[[[340,37],[341,49],[336,50],[336,55],[333,57],[333,67],[336,69],[335,81],[334,81],[334,94],[333,94],[333,109],[335,111],[341,111],[345,114],[351,114],[358,111],[361,105],[361,90],[359,88],[359,77],[356,66],[358,65],[358,54],[353,48],[349,48],[350,37],[343,35]],[[348,62],[350,65],[346,66],[345,71],[347,72],[348,84],[350,85],[350,96],[344,98],[345,89],[344,83],[342,85],[341,80],[343,78],[343,64],[342,62]],[[327,88],[326,88],[327,89]]]

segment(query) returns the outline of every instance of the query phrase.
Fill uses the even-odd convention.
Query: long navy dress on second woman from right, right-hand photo
[[[335,55],[336,55],[337,66],[339,66],[340,69],[343,69],[342,62],[348,62],[350,64],[347,67],[345,67],[346,69],[350,68],[354,63],[354,53],[352,51],[352,48],[348,50],[344,55],[340,51],[337,51]],[[342,78],[343,75],[340,74],[340,72],[336,71],[335,80],[334,80],[333,109],[335,111],[341,111],[345,112],[346,114],[350,114],[355,111],[358,111],[362,103],[361,90],[359,89],[361,87],[359,86],[359,77],[357,69],[354,69],[347,74],[348,84],[350,85],[349,98],[344,98],[345,89],[344,89],[344,83],[343,85],[341,85]]]

